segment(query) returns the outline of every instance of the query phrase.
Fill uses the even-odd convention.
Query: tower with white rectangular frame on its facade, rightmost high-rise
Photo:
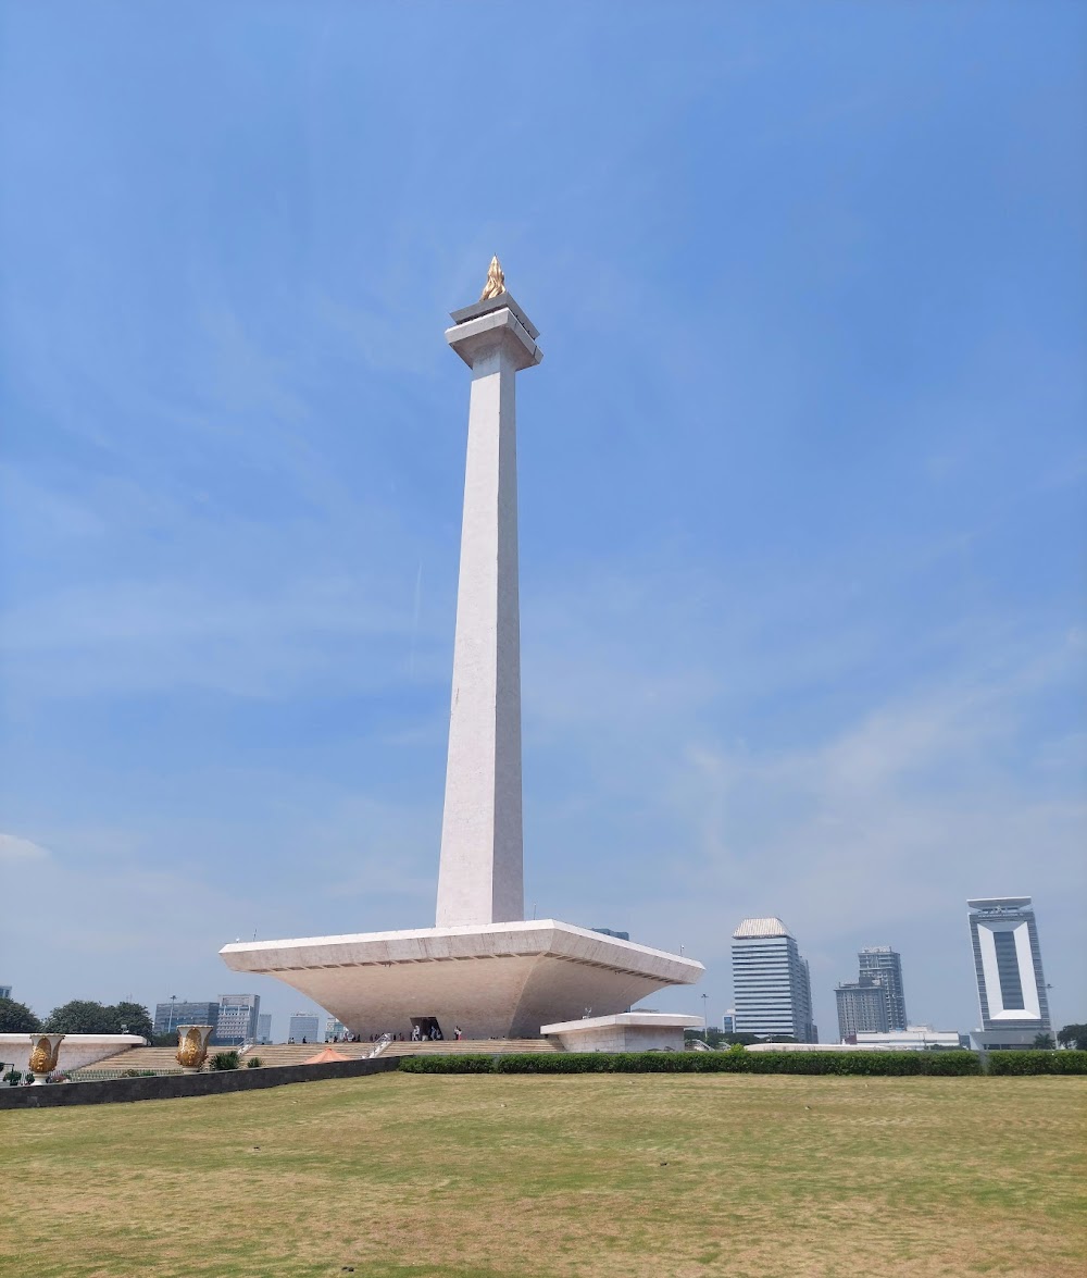
[[[967,901],[981,1030],[977,1047],[1032,1047],[1053,1034],[1038,928],[1028,896]]]

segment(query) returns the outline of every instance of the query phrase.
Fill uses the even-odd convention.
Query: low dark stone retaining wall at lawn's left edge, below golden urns
[[[355,1079],[396,1070],[399,1057],[373,1061],[330,1061],[326,1065],[272,1065],[259,1070],[222,1070],[211,1074],[158,1074],[144,1079],[107,1082],[47,1082],[40,1088],[0,1088],[0,1109],[49,1109],[55,1105],[102,1105],[121,1100],[174,1100],[178,1097],[215,1097],[224,1091],[259,1091],[286,1082]]]

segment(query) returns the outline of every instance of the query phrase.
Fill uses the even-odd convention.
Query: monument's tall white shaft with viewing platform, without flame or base
[[[543,359],[508,293],[453,311],[471,369],[437,927],[524,919],[513,378]]]

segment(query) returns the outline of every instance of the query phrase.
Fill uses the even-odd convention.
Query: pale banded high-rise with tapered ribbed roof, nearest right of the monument
[[[737,1034],[817,1042],[807,962],[780,919],[745,919],[732,933],[732,987]]]

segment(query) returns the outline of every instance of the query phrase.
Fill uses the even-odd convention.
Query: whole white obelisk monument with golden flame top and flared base
[[[471,391],[436,925],[221,951],[234,971],[277,976],[364,1038],[424,1017],[469,1038],[533,1036],[586,1016],[598,1025],[704,970],[524,916],[515,382],[543,353],[497,257],[479,302],[451,318],[446,340],[471,369]]]

